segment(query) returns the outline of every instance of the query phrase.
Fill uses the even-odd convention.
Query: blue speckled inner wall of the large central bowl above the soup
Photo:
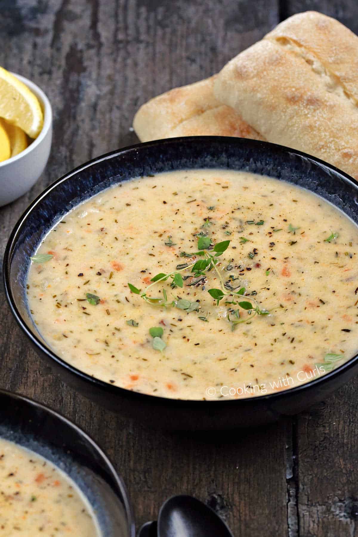
[[[27,209],[10,237],[4,258],[6,293],[18,322],[37,346],[64,364],[36,330],[26,302],[29,258],[49,228],[79,202],[113,184],[162,171],[203,168],[244,170],[294,183],[322,196],[358,222],[354,179],[314,157],[268,142],[190,137],[138,144],[105,155],[48,187]],[[89,375],[82,376],[91,381]]]

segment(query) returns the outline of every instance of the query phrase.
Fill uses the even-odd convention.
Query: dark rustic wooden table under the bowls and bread
[[[1,0],[0,64],[38,83],[54,108],[46,172],[0,209],[1,255],[45,186],[137,141],[131,120],[145,100],[213,74],[279,20],[307,9],[358,33],[356,0]],[[258,430],[154,433],[65,386],[21,335],[2,284],[0,293],[0,386],[59,410],[99,442],[127,484],[137,525],[184,492],[214,507],[237,537],[358,535],[358,380]]]

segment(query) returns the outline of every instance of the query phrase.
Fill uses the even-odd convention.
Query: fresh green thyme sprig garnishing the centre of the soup
[[[208,292],[210,296],[212,296],[213,299],[216,300],[217,306],[225,296],[232,296],[233,299],[235,299],[236,301],[232,300],[230,304],[237,305],[243,310],[246,310],[249,315],[252,315],[252,316],[268,315],[269,311],[265,309],[261,309],[259,307],[259,304],[255,300],[251,299],[250,302],[241,300],[242,297],[246,293],[245,287],[241,287],[238,291],[235,291],[235,289],[228,287],[227,283],[223,281],[221,273],[217,268],[217,264],[219,262],[218,257],[223,255],[224,251],[227,250],[229,244],[230,244],[230,241],[222,241],[213,246],[211,245],[210,237],[201,236],[198,239],[198,251],[193,252],[192,255],[195,257],[201,257],[203,259],[198,259],[191,264],[184,263],[181,265],[177,265],[177,270],[170,272],[169,274],[165,274],[163,272],[156,274],[150,280],[152,283],[143,292],[141,291],[141,289],[138,289],[137,287],[135,287],[133,284],[130,284],[129,282],[128,282],[128,287],[132,293],[140,295],[143,300],[149,302],[150,304],[159,304],[160,306],[165,306],[165,307],[175,306],[189,313],[190,311],[194,311],[199,308],[199,303],[197,301],[191,302],[186,299],[181,299],[180,297],[177,297],[177,299],[175,300],[168,301],[167,294],[164,288],[163,288],[163,297],[153,298],[151,296],[148,296],[149,289],[155,284],[159,283],[160,281],[166,281],[168,279],[172,280],[171,282],[172,287],[183,287],[184,281],[180,274],[181,271],[192,269],[191,272],[193,274],[193,277],[198,278],[201,276],[205,277],[206,272],[214,269],[220,281],[220,289],[219,288],[208,289]],[[249,319],[247,319],[246,317],[244,319],[241,319],[239,313],[236,313],[236,319],[230,322],[238,324],[238,323],[247,322],[248,320]]]

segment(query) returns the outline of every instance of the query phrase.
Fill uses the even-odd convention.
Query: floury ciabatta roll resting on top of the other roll
[[[268,141],[358,177],[358,37],[337,20],[285,20],[222,69],[214,95]]]

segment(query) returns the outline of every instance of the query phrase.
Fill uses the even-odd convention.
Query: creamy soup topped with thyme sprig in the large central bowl
[[[28,303],[60,357],[115,386],[262,395],[356,352],[357,245],[355,224],[303,188],[162,173],[65,215],[32,258]]]

